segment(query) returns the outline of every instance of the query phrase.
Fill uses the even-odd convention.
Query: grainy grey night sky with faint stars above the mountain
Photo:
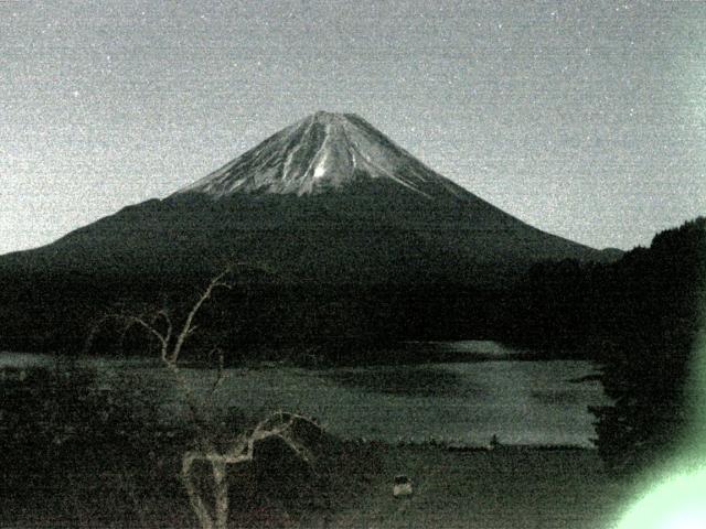
[[[706,2],[0,0],[0,253],[318,109],[542,229],[648,245],[706,214]]]

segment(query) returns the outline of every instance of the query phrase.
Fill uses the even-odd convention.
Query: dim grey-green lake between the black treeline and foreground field
[[[420,344],[428,347],[428,344]],[[609,403],[597,373],[580,360],[517,360],[517,352],[491,342],[435,344],[461,348],[469,361],[405,366],[304,369],[285,366],[232,368],[214,393],[217,412],[238,407],[264,417],[269,411],[300,411],[315,417],[331,433],[388,442],[431,439],[456,445],[485,445],[492,435],[505,444],[591,446],[588,406]],[[409,347],[409,344],[407,344]],[[482,361],[481,361],[482,360]],[[0,353],[0,368],[51,365],[42,355]],[[185,414],[171,375],[152,359],[82,358],[98,384],[153,388],[164,420]],[[205,393],[215,370],[184,369]]]

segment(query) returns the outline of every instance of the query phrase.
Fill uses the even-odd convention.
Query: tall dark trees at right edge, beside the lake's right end
[[[687,425],[685,386],[706,280],[706,219],[656,235],[611,268],[620,324],[603,355],[613,406],[593,408],[608,467],[640,469],[668,456]]]

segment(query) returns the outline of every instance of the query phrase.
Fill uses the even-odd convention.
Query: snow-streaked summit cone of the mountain
[[[309,195],[365,180],[394,182],[429,198],[464,193],[361,117],[318,111],[176,194]]]

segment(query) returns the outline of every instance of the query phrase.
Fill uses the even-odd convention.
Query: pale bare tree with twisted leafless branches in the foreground
[[[211,280],[196,302],[191,305],[181,326],[174,325],[172,316],[164,307],[152,312],[151,317],[122,313],[108,314],[94,326],[88,339],[88,344],[90,344],[100,325],[108,320],[113,320],[122,324],[124,334],[129,328],[138,326],[158,343],[161,363],[173,375],[197,430],[196,449],[190,450],[182,455],[180,477],[201,529],[225,529],[227,526],[229,512],[228,465],[252,462],[257,443],[268,439],[277,439],[288,446],[295,457],[311,466],[312,454],[304,443],[300,441],[297,432],[301,431],[302,428],[320,432],[319,425],[309,418],[280,411],[257,423],[252,431],[236,435],[227,443],[225,450],[218,450],[213,440],[210,439],[205,428],[204,414],[206,408],[213,406],[213,395],[223,384],[226,376],[224,352],[218,347],[214,347],[212,350],[217,355],[217,371],[216,378],[205,397],[199,397],[189,379],[184,376],[180,367],[180,357],[184,344],[197,328],[194,320],[203,304],[212,298],[216,289],[232,288],[232,284],[226,281],[231,272],[232,268],[228,267]],[[212,490],[210,496],[213,498],[212,506],[208,506],[208,503],[204,499],[203,490],[196,485],[194,473],[196,462],[203,462],[211,466]]]

